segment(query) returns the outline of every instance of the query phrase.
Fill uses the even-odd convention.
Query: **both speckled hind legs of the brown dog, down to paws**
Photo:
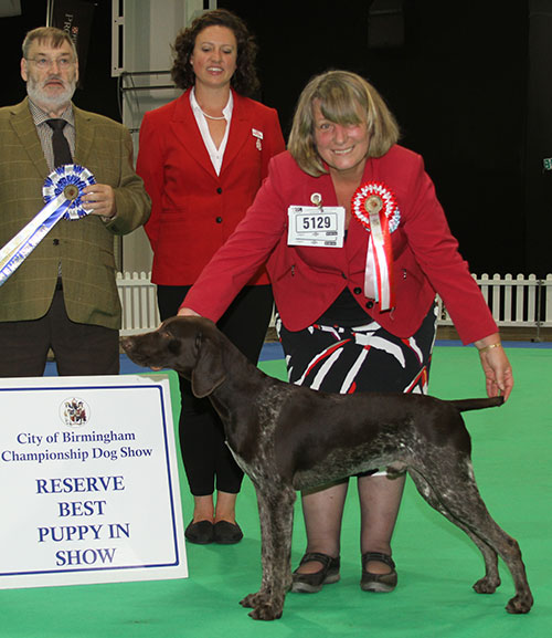
[[[416,487],[422,496],[466,532],[484,555],[487,573],[475,584],[476,592],[492,593],[498,586],[495,556],[498,554],[510,569],[516,587],[516,596],[508,602],[506,609],[510,614],[527,614],[532,607],[533,597],[521,551],[516,540],[499,527],[489,514],[477,489],[469,459],[448,459],[446,468],[443,463],[436,463],[433,468],[425,464],[425,468],[420,468],[420,473],[422,480],[416,472],[411,472],[411,475],[415,482],[417,479],[420,487],[417,483]]]

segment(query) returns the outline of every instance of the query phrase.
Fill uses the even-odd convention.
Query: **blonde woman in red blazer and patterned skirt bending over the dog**
[[[267,263],[289,380],[337,393],[425,393],[436,330],[435,293],[464,343],[474,343],[490,396],[512,386],[492,316],[450,234],[422,158],[397,146],[376,91],[353,73],[310,81],[289,151],[179,314],[214,321]],[[316,432],[314,432],[316,436]],[[404,479],[359,477],[361,587],[397,582],[391,537]],[[307,553],[294,592],[339,581],[347,481],[302,494]]]

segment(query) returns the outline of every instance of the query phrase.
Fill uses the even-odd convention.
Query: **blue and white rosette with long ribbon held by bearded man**
[[[2,285],[39,245],[52,228],[65,218],[81,219],[91,210],[82,203],[83,189],[96,184],[92,172],[76,164],[66,164],[51,172],[42,188],[46,206],[0,250]]]

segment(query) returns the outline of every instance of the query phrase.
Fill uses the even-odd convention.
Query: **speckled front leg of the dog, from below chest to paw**
[[[269,481],[267,481],[269,482]],[[282,616],[286,593],[291,586],[291,531],[296,493],[293,488],[255,485],[261,517],[263,579],[261,589],[241,604],[252,607],[255,620],[275,620]]]

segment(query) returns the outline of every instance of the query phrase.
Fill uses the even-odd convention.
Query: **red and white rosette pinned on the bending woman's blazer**
[[[395,196],[384,184],[369,181],[360,186],[351,200],[353,217],[370,232],[364,272],[364,294],[375,300],[382,311],[394,306],[393,251],[391,233],[396,230],[401,212]]]

